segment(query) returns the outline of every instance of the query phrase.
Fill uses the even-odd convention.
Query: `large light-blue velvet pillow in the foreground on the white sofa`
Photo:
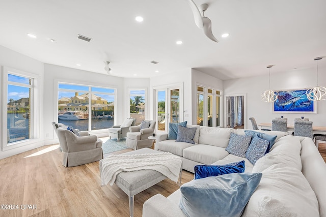
[[[180,187],[179,207],[187,216],[241,216],[262,173],[231,173],[194,179]]]

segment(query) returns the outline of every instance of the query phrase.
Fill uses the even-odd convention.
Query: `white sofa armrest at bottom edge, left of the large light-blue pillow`
[[[143,204],[143,217],[186,216],[179,204],[173,203],[161,194],[154,195]]]

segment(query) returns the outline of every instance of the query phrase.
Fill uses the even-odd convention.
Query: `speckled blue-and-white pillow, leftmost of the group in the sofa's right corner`
[[[235,156],[246,158],[246,151],[250,145],[251,137],[231,133],[229,145],[225,150]]]

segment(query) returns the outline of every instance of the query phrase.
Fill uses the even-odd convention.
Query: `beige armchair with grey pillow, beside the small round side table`
[[[145,120],[150,121],[149,128],[141,129],[141,125],[130,127],[130,132],[127,133],[127,146],[134,150],[141,148],[152,147],[152,140],[148,139],[149,136],[152,136],[155,130],[156,121],[154,120]]]

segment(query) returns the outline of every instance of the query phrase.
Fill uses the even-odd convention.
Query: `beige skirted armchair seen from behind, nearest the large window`
[[[82,134],[76,136],[65,127],[59,127],[57,133],[63,166],[73,167],[103,159],[102,141],[96,135],[80,132]]]

